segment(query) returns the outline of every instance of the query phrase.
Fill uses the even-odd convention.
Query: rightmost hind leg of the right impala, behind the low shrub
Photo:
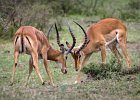
[[[124,42],[124,40],[119,39],[119,45],[120,45],[122,53],[125,57],[128,68],[131,68],[131,62],[130,62],[130,58],[129,58],[128,53],[127,53],[126,43]]]

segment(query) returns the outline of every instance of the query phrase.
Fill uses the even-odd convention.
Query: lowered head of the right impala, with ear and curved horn
[[[83,49],[86,47],[86,45],[88,44],[88,39],[87,39],[87,34],[85,32],[85,30],[82,28],[82,26],[80,24],[78,24],[77,22],[75,22],[81,29],[82,31],[84,32],[84,42],[78,46],[78,47],[75,47],[71,50],[71,55],[74,59],[74,62],[75,62],[75,70],[78,71],[80,66],[81,66],[81,60],[83,60],[84,58],[84,53],[83,53]],[[71,48],[72,46],[66,41],[66,45],[68,48]]]

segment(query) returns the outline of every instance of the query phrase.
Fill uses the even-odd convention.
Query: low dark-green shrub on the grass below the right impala
[[[134,65],[131,69],[123,69],[122,64],[118,64],[117,59],[112,57],[105,65],[90,63],[82,71],[93,79],[118,79],[121,76],[139,73],[140,67]]]

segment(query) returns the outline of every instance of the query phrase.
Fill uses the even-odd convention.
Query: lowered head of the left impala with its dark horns
[[[55,29],[56,29],[56,34],[57,34],[57,44],[60,47],[60,51],[61,51],[61,54],[59,55],[59,58],[58,58],[58,62],[62,64],[62,69],[61,69],[62,73],[66,74],[67,73],[67,70],[66,70],[67,55],[69,53],[71,53],[71,50],[74,48],[75,43],[76,43],[76,39],[75,39],[74,34],[72,33],[72,31],[70,31],[70,34],[71,34],[71,36],[73,38],[73,44],[69,49],[66,49],[64,47],[64,44],[60,43],[59,32],[58,32],[56,24],[55,24]],[[69,28],[69,30],[70,30],[70,28]]]

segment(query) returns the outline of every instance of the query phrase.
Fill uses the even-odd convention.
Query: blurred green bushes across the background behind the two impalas
[[[16,2],[2,0],[0,3],[0,38],[12,37],[15,26],[21,25],[31,25],[47,32],[50,25],[57,22],[59,30],[62,30],[63,19],[71,15],[82,16],[83,20],[90,16],[91,21],[96,18],[99,20],[115,17],[138,22],[140,19],[139,5],[139,0],[24,0]],[[3,32],[3,29],[7,32]]]

